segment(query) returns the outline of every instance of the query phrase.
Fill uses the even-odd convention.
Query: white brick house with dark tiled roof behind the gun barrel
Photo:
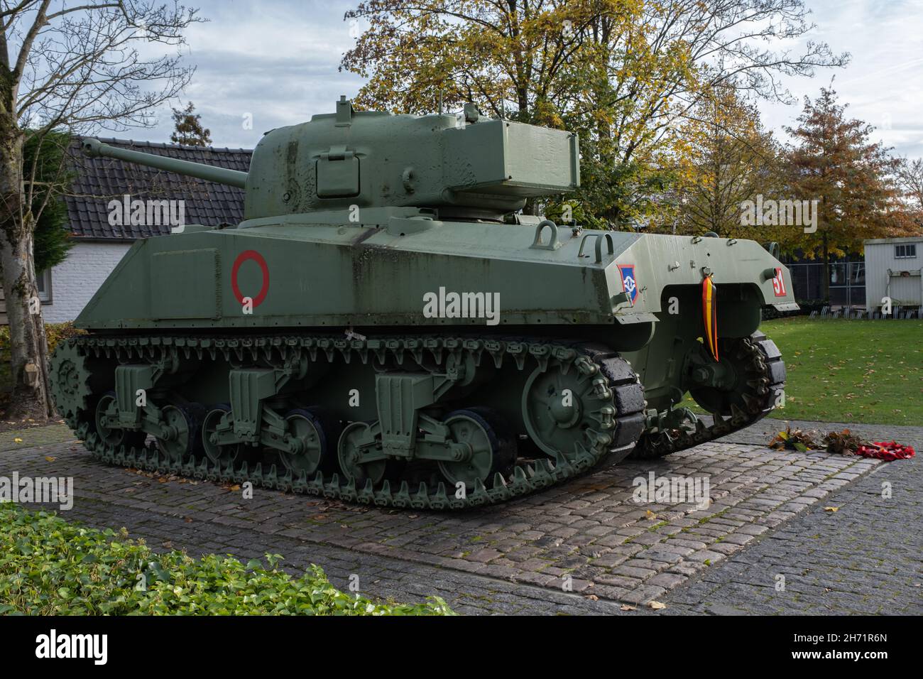
[[[101,139],[125,149],[246,172],[252,151]],[[112,158],[89,158],[75,140],[69,152],[75,180],[66,197],[68,227],[74,239],[67,259],[39,274],[45,322],[73,321],[138,238],[163,236],[166,220],[132,220],[120,212],[127,200],[182,201],[185,224],[237,224],[244,218],[244,191]],[[114,212],[119,212],[114,214]],[[150,214],[150,212],[149,212]],[[139,223],[138,223],[139,222]],[[0,290],[2,294],[2,290]],[[0,323],[6,306],[0,301]]]

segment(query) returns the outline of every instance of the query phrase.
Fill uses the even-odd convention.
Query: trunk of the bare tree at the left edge
[[[13,401],[23,412],[54,415],[49,398],[48,345],[32,259],[34,224],[24,205],[23,135],[0,121],[0,270],[9,322]],[[41,417],[41,415],[40,415]]]

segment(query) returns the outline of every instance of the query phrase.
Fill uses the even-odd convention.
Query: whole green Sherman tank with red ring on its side
[[[106,463],[462,509],[713,440],[782,394],[761,309],[797,307],[773,253],[522,213],[579,186],[567,131],[341,98],[266,133],[248,173],[83,146],[246,192],[240,224],[136,242],[54,351],[56,406]]]

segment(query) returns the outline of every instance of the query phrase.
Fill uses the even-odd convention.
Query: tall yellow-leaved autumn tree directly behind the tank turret
[[[807,33],[808,15],[802,0],[364,0],[346,18],[369,28],[341,67],[366,78],[362,107],[472,102],[576,131],[581,188],[565,200],[584,223],[657,224],[680,129],[714,89],[786,100],[780,76],[845,64],[822,42],[763,46]]]

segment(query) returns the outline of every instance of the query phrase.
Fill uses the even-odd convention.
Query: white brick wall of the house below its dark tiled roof
[[[73,321],[115,265],[131,248],[131,243],[77,243],[67,259],[52,269],[52,303],[42,304],[46,323]]]

